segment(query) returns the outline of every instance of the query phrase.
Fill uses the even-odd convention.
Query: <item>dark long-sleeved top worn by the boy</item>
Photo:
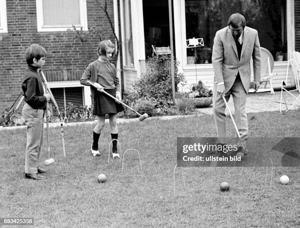
[[[22,90],[25,101],[34,109],[46,109],[47,98],[44,96],[44,88],[38,68],[28,65],[23,76]]]

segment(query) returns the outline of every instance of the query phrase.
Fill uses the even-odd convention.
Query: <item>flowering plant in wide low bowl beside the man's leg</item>
[[[207,107],[212,104],[212,90],[207,88],[202,81],[199,81],[198,84],[192,84],[191,91],[186,94],[184,99],[192,101],[196,108]]]

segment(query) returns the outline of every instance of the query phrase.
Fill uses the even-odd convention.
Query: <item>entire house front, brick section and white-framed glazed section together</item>
[[[114,40],[107,13],[121,44],[117,70],[124,93],[132,89],[153,47],[170,46],[168,0],[0,0],[0,111],[21,92],[24,53],[31,43],[48,51],[44,72],[59,106],[91,104],[79,78],[98,57],[102,39]],[[245,15],[260,44],[274,58],[274,87],[285,79],[287,60],[300,51],[300,0],[173,0],[174,51],[186,83],[213,85],[211,51],[215,32],[231,13]],[[57,7],[58,6],[58,7]],[[203,41],[189,46],[191,39]],[[122,67],[121,67],[122,66]],[[121,68],[123,69],[121,74]],[[288,71],[290,74],[290,71]],[[290,77],[291,78],[291,77]],[[286,82],[293,85],[293,80]]]

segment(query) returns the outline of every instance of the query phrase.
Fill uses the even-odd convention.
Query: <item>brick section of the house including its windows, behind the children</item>
[[[112,23],[114,3],[117,1],[107,0]],[[27,67],[25,50],[32,43],[48,52],[43,70],[60,108],[63,110],[68,102],[91,103],[90,89],[79,79],[88,63],[98,58],[99,41],[114,40],[100,8],[104,5],[105,0],[0,0],[1,113],[21,93]]]

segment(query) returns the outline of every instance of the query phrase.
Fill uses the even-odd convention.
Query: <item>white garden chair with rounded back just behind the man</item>
[[[265,48],[260,48],[261,51],[261,79],[260,84],[265,84],[264,88],[259,88],[258,92],[271,91],[271,94],[274,93],[272,78],[277,75],[277,73],[272,73],[274,68],[274,58],[270,51]],[[251,72],[253,72],[253,60],[250,60]],[[251,74],[250,79],[250,88],[253,88],[254,78]],[[270,88],[266,88],[267,84],[270,84]],[[250,89],[249,92],[254,92],[254,89]]]

